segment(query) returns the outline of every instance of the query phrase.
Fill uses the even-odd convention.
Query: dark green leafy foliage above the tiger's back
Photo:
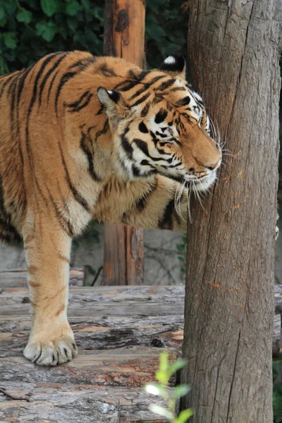
[[[186,54],[183,0],[148,0],[147,66],[171,51]],[[104,0],[0,0],[0,74],[32,65],[53,51],[103,51]]]

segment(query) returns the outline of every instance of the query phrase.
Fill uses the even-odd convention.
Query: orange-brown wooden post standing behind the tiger
[[[145,1],[106,0],[104,54],[145,66]],[[104,285],[143,283],[143,230],[104,224]]]

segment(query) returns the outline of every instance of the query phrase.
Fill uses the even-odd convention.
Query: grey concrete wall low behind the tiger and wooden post
[[[278,221],[280,235],[276,241],[275,283],[282,283],[282,220]],[[99,238],[93,238],[91,228],[73,248],[72,266],[85,266],[86,281],[91,283],[94,272],[103,265],[103,226],[95,226]],[[145,284],[179,285],[185,283],[183,267],[185,252],[180,252],[183,234],[171,231],[145,231]],[[96,240],[96,242],[93,241]],[[23,248],[0,244],[0,271],[5,269],[25,268]],[[97,279],[102,284],[102,272]]]

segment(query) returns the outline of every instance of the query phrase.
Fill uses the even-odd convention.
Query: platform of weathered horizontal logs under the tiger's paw
[[[0,423],[164,422],[148,411],[159,399],[142,387],[154,381],[161,351],[171,360],[181,355],[184,287],[71,287],[68,316],[79,355],[37,367],[23,357],[31,327],[23,272],[0,274],[0,388],[20,398],[0,393]],[[276,291],[277,312],[282,289]],[[280,314],[274,329],[278,351]]]

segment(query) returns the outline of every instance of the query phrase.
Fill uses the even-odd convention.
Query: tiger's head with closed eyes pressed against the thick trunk
[[[115,90],[99,87],[120,171],[130,180],[160,173],[195,190],[216,180],[221,149],[199,94],[185,80],[185,59],[168,56],[160,70],[132,72]]]

